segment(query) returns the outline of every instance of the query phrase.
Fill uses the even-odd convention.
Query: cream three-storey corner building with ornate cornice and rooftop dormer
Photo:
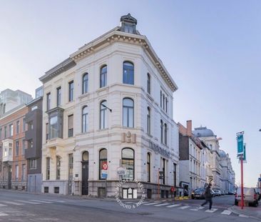
[[[130,180],[120,196],[137,188],[133,180],[157,196],[159,171],[162,197],[178,186],[178,87],[136,24],[122,16],[121,26],[41,76],[42,192],[115,196],[120,166]]]

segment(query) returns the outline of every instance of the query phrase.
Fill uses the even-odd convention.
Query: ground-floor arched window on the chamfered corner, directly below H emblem
[[[121,151],[121,166],[126,168],[123,179],[134,180],[134,151],[132,148],[123,148]]]

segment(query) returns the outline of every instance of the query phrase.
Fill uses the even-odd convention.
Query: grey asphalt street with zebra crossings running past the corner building
[[[213,211],[200,208],[203,200],[145,200],[127,209],[113,198],[53,196],[19,191],[0,191],[0,221],[260,221],[232,213],[234,196],[213,198]],[[135,206],[137,201],[123,201]]]

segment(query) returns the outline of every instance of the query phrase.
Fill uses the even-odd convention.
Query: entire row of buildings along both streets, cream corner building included
[[[124,181],[121,194],[133,197],[140,182],[148,198],[210,181],[233,189],[213,131],[173,120],[178,86],[136,25],[122,16],[81,46],[40,77],[35,99],[1,92],[0,188],[115,196]]]

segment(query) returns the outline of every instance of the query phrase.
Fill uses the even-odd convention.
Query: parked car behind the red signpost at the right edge
[[[255,207],[258,206],[258,195],[255,191],[255,188],[246,188],[244,187],[244,202],[249,203]],[[237,188],[237,193],[235,193],[235,205],[237,206],[238,203],[241,201],[241,188]]]

